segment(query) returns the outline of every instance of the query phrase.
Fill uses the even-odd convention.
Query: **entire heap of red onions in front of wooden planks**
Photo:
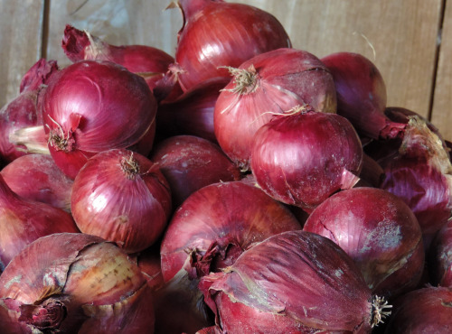
[[[0,331],[450,332],[450,138],[361,54],[174,7],[174,55],[67,24],[2,107]]]

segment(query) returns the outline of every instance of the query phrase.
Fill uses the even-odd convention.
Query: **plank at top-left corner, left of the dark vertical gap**
[[[43,0],[0,1],[0,107],[19,94],[25,72],[41,58]]]

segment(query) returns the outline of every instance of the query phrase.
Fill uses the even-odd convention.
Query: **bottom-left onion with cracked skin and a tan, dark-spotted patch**
[[[8,333],[154,332],[151,290],[137,265],[84,233],[41,237],[24,248],[0,277],[0,298]],[[46,309],[60,317],[38,326]],[[34,322],[32,311],[41,313]]]

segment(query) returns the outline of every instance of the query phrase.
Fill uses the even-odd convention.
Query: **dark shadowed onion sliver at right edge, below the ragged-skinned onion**
[[[428,273],[432,284],[452,288],[452,219],[438,230],[431,242]]]

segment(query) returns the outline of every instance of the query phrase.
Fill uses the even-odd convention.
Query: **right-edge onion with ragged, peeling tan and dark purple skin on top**
[[[379,161],[385,172],[381,188],[409,205],[426,240],[446,224],[452,212],[452,164],[443,145],[438,135],[414,116],[397,155]]]

